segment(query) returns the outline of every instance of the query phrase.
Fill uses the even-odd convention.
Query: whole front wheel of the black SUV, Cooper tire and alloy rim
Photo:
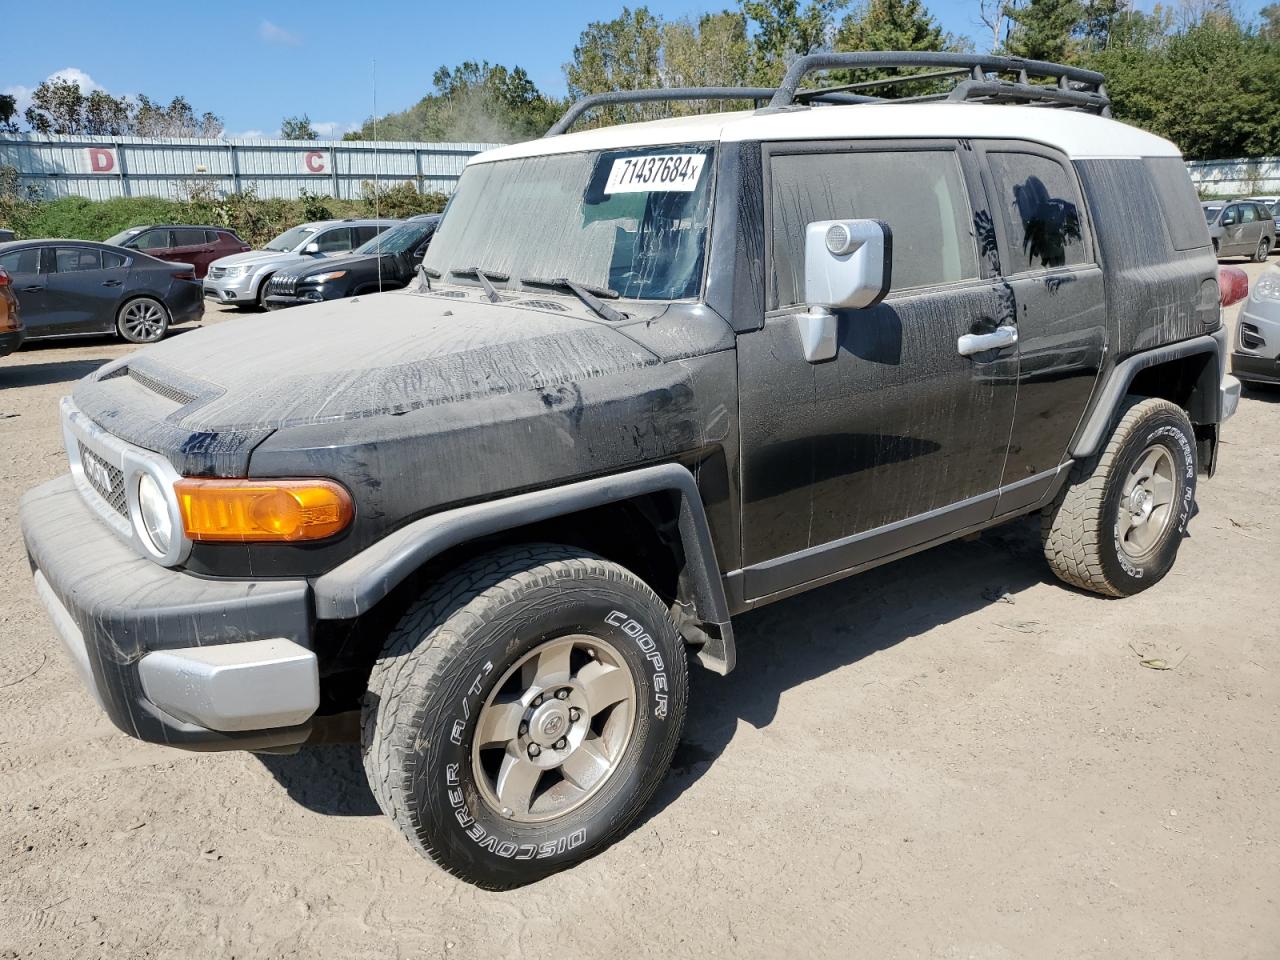
[[[392,632],[365,769],[422,855],[516,887],[622,836],[666,776],[686,699],[684,643],[635,575],[566,547],[498,550]]]

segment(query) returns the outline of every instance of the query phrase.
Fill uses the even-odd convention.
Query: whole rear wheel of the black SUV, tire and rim
[[[1134,398],[1102,452],[1071,468],[1044,509],[1044,557],[1060,580],[1105,596],[1158,582],[1196,502],[1196,435],[1169,401]]]

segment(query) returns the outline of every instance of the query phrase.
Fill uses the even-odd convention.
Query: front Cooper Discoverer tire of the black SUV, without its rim
[[[630,740],[579,808],[512,822],[480,796],[472,736],[508,668],[564,635],[599,637],[621,654],[635,685]],[[686,701],[684,641],[639,577],[575,548],[504,548],[434,585],[390,632],[364,703],[365,771],[379,806],[419,852],[471,883],[506,890],[622,836],[667,773]]]

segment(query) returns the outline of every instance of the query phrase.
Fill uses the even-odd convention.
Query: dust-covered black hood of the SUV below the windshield
[[[481,402],[660,362],[621,329],[541,302],[406,291],[247,316],[105,366],[74,399],[182,472],[236,475],[282,426]]]

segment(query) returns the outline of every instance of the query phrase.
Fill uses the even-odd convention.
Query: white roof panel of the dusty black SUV
[[[741,110],[627,123],[512,143],[479,154],[470,163],[664,143],[911,137],[1033,141],[1056,147],[1073,160],[1181,156],[1178,147],[1167,140],[1126,123],[1079,110],[991,104],[886,102],[815,106],[781,113]]]

